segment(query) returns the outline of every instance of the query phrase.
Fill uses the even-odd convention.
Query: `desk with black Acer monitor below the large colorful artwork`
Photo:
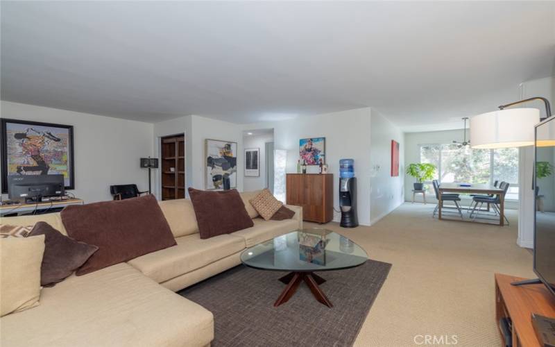
[[[0,201],[0,217],[59,212],[85,201],[67,196],[63,175],[8,176],[8,200]]]

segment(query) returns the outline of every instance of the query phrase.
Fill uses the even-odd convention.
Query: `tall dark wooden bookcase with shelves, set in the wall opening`
[[[162,200],[185,198],[185,136],[162,137]]]

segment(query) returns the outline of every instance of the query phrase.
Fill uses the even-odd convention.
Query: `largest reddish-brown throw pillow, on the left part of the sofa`
[[[71,205],[61,216],[67,235],[99,247],[77,276],[176,245],[153,195]]]

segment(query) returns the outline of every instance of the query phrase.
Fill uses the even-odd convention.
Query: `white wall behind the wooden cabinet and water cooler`
[[[298,117],[285,121],[247,124],[244,130],[274,129],[275,149],[287,150],[287,172],[297,171],[299,139],[326,138],[326,163],[334,174],[334,208],[339,210],[339,160],[355,160],[357,176],[357,211],[359,223],[370,225],[370,108]],[[308,172],[318,172],[309,167]],[[341,215],[334,213],[334,220]]]

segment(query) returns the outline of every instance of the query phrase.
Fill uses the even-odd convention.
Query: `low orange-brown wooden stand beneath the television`
[[[513,346],[540,347],[533,331],[531,314],[555,317],[555,296],[544,285],[513,286],[511,282],[525,280],[495,273],[495,320],[509,317],[513,322]],[[501,333],[501,328],[499,328]],[[504,337],[501,333],[504,345]]]

